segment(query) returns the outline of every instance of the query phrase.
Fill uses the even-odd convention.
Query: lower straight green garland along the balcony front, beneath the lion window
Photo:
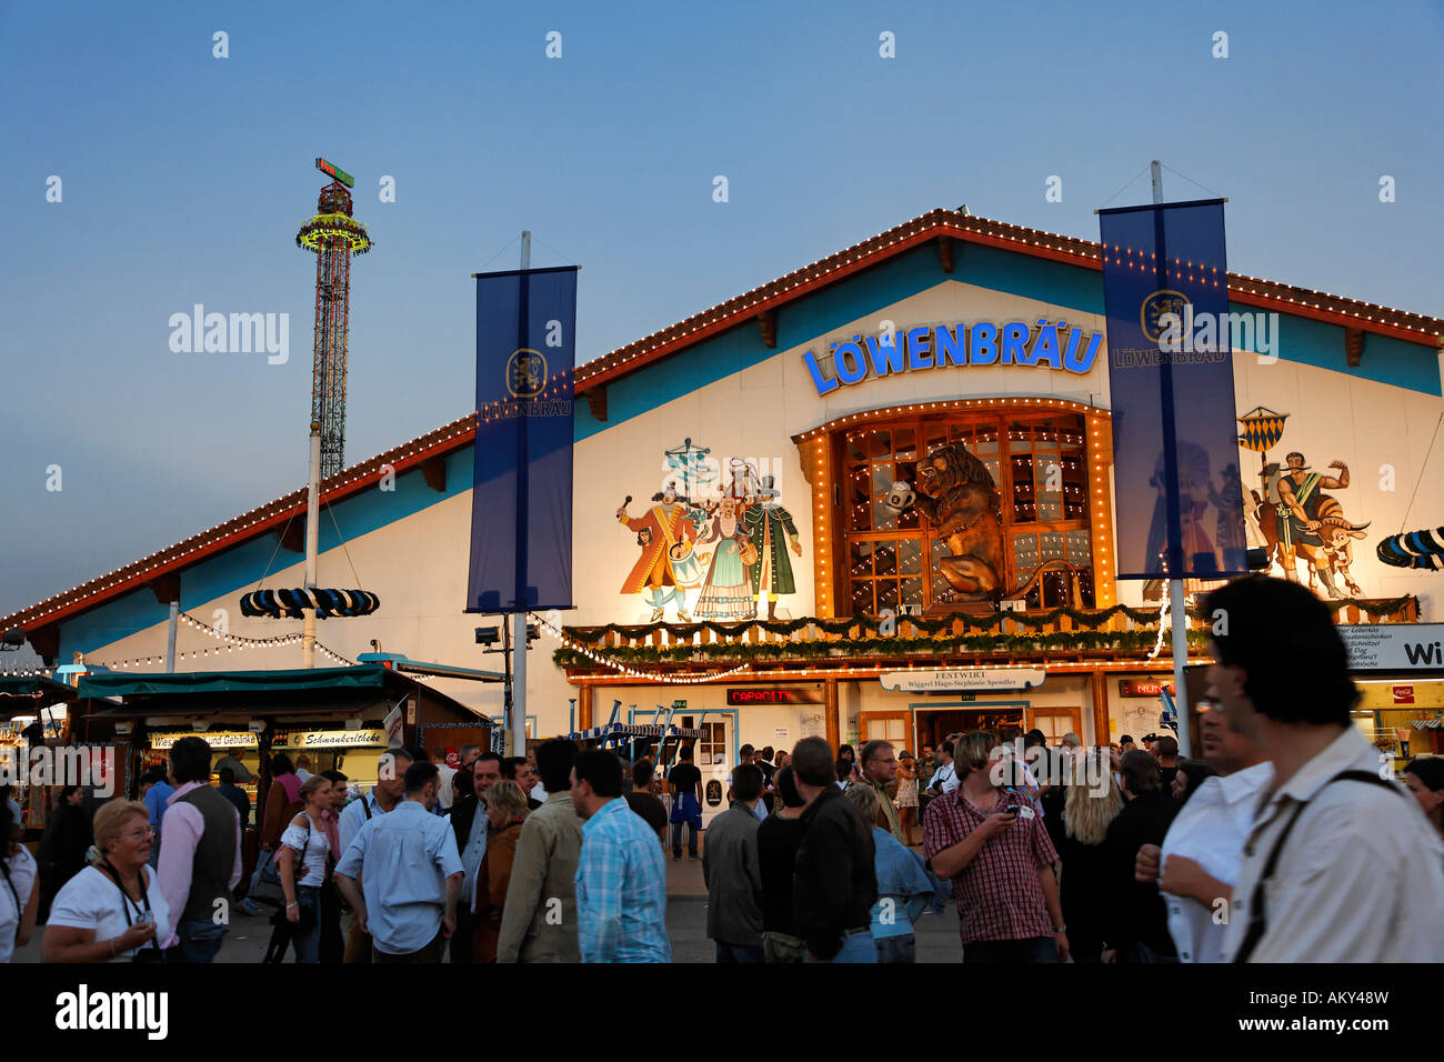
[[[754,660],[816,660],[838,656],[924,656],[947,657],[970,653],[1076,653],[1076,652],[1142,652],[1157,644],[1158,633],[1148,630],[1116,631],[1048,631],[1045,634],[965,634],[944,639],[842,639],[838,642],[774,642],[774,643],[712,643],[674,646],[622,646],[602,650],[608,659],[625,665],[653,663],[696,663],[708,665],[747,663]],[[1204,649],[1209,633],[1188,631],[1188,644]],[[1173,644],[1171,633],[1164,634],[1164,644]],[[560,647],[552,653],[557,668],[595,668],[596,662],[575,649]]]

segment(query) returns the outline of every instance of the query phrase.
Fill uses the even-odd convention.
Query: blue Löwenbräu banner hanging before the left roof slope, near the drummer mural
[[[578,269],[477,275],[468,613],[572,607]]]

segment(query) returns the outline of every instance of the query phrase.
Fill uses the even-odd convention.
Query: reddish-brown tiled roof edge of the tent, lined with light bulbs
[[[760,316],[812,292],[839,283],[934,240],[957,240],[965,244],[999,247],[1083,269],[1099,272],[1103,269],[1102,246],[1089,240],[991,221],[973,217],[963,210],[934,210],[579,366],[576,393],[583,394],[588,390],[602,387],[712,335],[754,324]],[[950,253],[950,250],[949,243],[947,251]],[[1430,347],[1438,345],[1440,337],[1444,337],[1444,321],[1438,318],[1262,280],[1243,273],[1229,273],[1229,298],[1245,305],[1314,318],[1343,328],[1376,332]],[[387,465],[400,475],[423,461],[469,446],[475,435],[472,419],[472,415],[466,415],[336,472],[322,481],[322,501],[334,504],[365,490],[386,474]],[[234,520],[192,535],[168,549],[150,553],[134,564],[117,568],[0,618],[0,629],[26,627],[35,630],[59,623],[120,594],[131,592],[155,579],[178,572],[212,553],[237,546],[258,535],[283,529],[292,519],[305,516],[305,511],[306,490],[295,490],[284,497],[241,513]]]

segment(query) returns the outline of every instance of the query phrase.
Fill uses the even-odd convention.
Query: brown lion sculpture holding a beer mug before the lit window
[[[957,591],[957,600],[996,600],[1002,585],[1002,519],[998,488],[988,465],[960,442],[934,446],[917,465],[917,494],[894,484],[890,507],[918,513],[947,539],[952,556],[937,571]]]

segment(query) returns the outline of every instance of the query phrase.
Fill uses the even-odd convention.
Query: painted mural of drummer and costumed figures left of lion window
[[[728,458],[723,477],[710,452],[690,438],[664,451],[667,480],[651,509],[631,516],[628,494],[617,510],[641,551],[621,587],[643,597],[641,621],[664,621],[670,608],[679,623],[736,623],[758,618],[764,603],[775,620],[778,598],[797,592],[791,556],[803,548],[777,478],[739,457]]]

